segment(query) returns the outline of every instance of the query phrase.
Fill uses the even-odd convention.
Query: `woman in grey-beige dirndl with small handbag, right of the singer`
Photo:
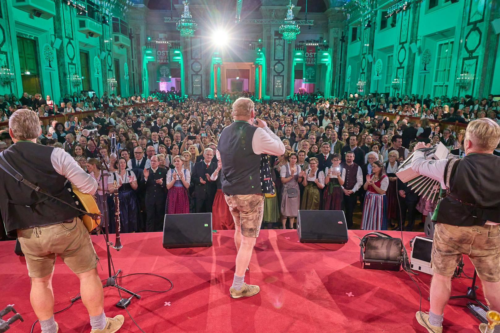
[[[286,229],[286,219],[290,220],[290,229],[293,229],[293,222],[298,215],[300,206],[300,195],[298,190],[298,180],[301,179],[300,167],[297,164],[298,155],[295,152],[285,152],[284,157],[288,163],[280,170],[281,183],[281,228]]]

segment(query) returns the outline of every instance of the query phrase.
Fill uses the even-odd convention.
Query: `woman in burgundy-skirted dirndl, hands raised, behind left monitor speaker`
[[[189,170],[184,169],[184,159],[182,156],[175,156],[173,159],[173,169],[166,173],[166,212],[165,214],[189,214],[189,197],[187,189],[191,181]]]

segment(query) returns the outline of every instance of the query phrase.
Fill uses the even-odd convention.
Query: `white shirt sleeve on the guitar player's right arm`
[[[50,162],[55,172],[64,176],[73,183],[78,190],[86,194],[97,191],[97,182],[78,165],[71,155],[63,149],[54,148],[50,155]]]

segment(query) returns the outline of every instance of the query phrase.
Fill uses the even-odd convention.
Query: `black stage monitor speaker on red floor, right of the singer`
[[[346,243],[345,215],[343,211],[299,210],[297,234],[300,243]]]

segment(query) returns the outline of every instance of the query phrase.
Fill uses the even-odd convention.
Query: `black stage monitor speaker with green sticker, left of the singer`
[[[165,249],[212,246],[212,213],[165,214]]]

